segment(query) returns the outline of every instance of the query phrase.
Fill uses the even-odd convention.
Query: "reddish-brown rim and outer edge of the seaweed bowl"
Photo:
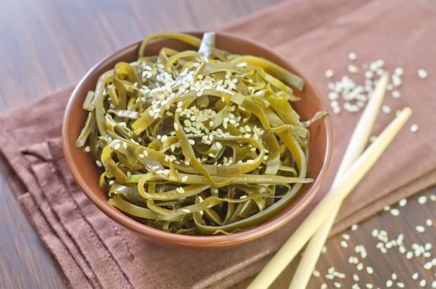
[[[185,34],[203,34],[204,31],[200,30],[194,30],[189,32],[180,32]],[[267,46],[264,46],[262,43],[254,42],[250,39],[246,39],[243,36],[237,36],[235,34],[231,34],[228,32],[215,32],[217,35],[224,36],[229,39],[236,39],[240,41],[244,41],[245,43],[248,43],[250,46],[257,46],[264,51],[268,51],[272,55],[274,55],[278,60],[281,60],[285,62],[289,67],[293,69],[293,71],[298,75],[303,75],[300,73],[299,69],[296,69],[293,65],[291,65],[288,60],[286,60],[282,55],[276,53],[274,50],[268,48]],[[142,41],[142,40],[141,40]],[[297,206],[293,207],[293,210],[286,210],[286,208],[283,208],[281,213],[278,213],[278,215],[275,215],[270,220],[263,222],[261,224],[258,224],[255,227],[252,227],[250,229],[245,229],[243,231],[239,231],[233,234],[229,235],[217,235],[217,236],[191,236],[191,235],[183,235],[183,234],[175,234],[167,231],[162,231],[160,229],[155,229],[153,227],[148,227],[146,224],[141,224],[140,222],[137,222],[136,220],[132,219],[131,217],[124,215],[124,213],[115,210],[110,210],[107,206],[106,202],[101,201],[101,199],[98,199],[96,194],[89,189],[89,187],[86,185],[86,182],[81,177],[79,173],[79,168],[75,166],[75,161],[72,158],[72,154],[70,153],[70,145],[68,144],[68,126],[66,125],[68,123],[68,119],[70,118],[70,114],[72,112],[72,107],[74,105],[75,99],[77,98],[79,88],[83,85],[84,82],[86,82],[86,79],[94,73],[98,67],[103,65],[105,62],[110,61],[113,58],[117,58],[118,55],[124,54],[129,50],[136,49],[141,41],[136,41],[134,43],[131,43],[127,46],[124,46],[115,53],[112,53],[99,62],[96,63],[91,69],[89,69],[88,72],[80,79],[79,83],[77,83],[77,86],[75,86],[75,89],[72,91],[70,95],[70,99],[68,100],[68,103],[65,107],[65,112],[63,115],[63,122],[62,122],[62,147],[63,147],[63,154],[65,156],[66,163],[68,165],[68,168],[70,169],[70,172],[72,173],[72,176],[75,179],[75,182],[79,185],[80,189],[84,192],[86,197],[94,203],[94,205],[101,210],[105,215],[110,217],[112,220],[115,220],[115,222],[118,222],[119,224],[122,224],[122,226],[127,227],[128,229],[135,231],[138,234],[141,234],[143,236],[147,236],[148,238],[151,238],[155,241],[163,241],[165,243],[173,243],[174,245],[181,245],[186,246],[190,248],[216,248],[216,247],[224,247],[224,246],[234,246],[236,244],[245,243],[246,241],[250,241],[255,238],[260,238],[262,236],[265,236],[272,231],[275,231],[276,229],[279,229],[280,227],[283,227],[283,225],[287,224],[292,220],[296,215],[302,212],[304,208],[306,208],[309,203],[314,199],[314,196],[316,195],[316,192],[319,191],[321,188],[321,185],[326,181],[326,177],[328,175],[328,170],[331,167],[331,162],[333,159],[333,128],[331,124],[331,118],[329,115],[326,115],[326,117],[323,118],[323,125],[326,126],[326,155],[323,159],[323,166],[319,172],[318,177],[314,180],[312,183],[312,188],[307,191],[306,194],[302,197],[302,199],[299,201]],[[305,77],[304,77],[305,78]],[[305,78],[306,79],[306,78]],[[311,83],[311,86],[314,90],[315,97],[318,98],[319,103],[321,105],[321,108],[326,110],[326,101],[321,97],[321,93],[319,93],[319,90],[306,79],[307,82]]]

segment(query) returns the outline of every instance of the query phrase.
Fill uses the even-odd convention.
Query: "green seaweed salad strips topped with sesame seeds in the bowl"
[[[176,39],[195,50],[149,43]],[[269,220],[307,177],[309,126],[292,107],[299,76],[215,47],[215,35],[161,33],[86,95],[77,147],[101,168],[108,202],[150,227],[231,234]]]

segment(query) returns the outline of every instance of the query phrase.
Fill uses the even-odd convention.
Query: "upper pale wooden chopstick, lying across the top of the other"
[[[304,244],[309,241],[309,238],[319,229],[326,217],[333,212],[336,204],[345,199],[362,177],[368,173],[368,170],[380,158],[410,116],[411,109],[406,107],[395,117],[372,145],[365,150],[364,154],[342,175],[337,186],[329,191],[326,197],[314,208],[248,288],[264,289],[271,285],[278,274],[286,268]]]

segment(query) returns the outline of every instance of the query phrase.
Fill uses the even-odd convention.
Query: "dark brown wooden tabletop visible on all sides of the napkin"
[[[66,86],[72,86],[94,63],[127,43],[159,30],[212,29],[236,20],[280,0],[15,0],[1,1],[0,8],[0,112],[18,107]],[[421,194],[436,194],[432,188]],[[385,229],[389,236],[404,234],[407,250],[412,243],[431,243],[436,240],[435,226],[426,227],[430,218],[436,224],[436,202],[430,199],[423,205],[413,196],[398,217],[380,213],[350,231],[348,248],[342,248],[341,236],[331,238],[327,252],[321,256],[317,269],[320,277],[313,277],[309,288],[319,288],[325,282],[329,267],[346,275],[338,279],[342,288],[351,288],[352,274],[358,272],[361,288],[373,283],[385,288],[393,272],[406,288],[420,288],[425,278],[431,288],[436,280],[436,267],[423,269],[431,260],[413,257],[407,260],[398,248],[386,255],[376,249],[374,228]],[[63,288],[61,274],[46,252],[34,229],[0,175],[0,288]],[[415,227],[423,224],[420,234]],[[373,274],[358,271],[348,263],[354,246],[364,245],[368,257],[362,261],[374,269]],[[436,246],[436,243],[435,243]],[[436,257],[435,248],[431,250]],[[288,288],[295,264],[281,274],[273,288]],[[411,275],[419,273],[418,281]],[[250,280],[236,284],[245,288]],[[335,288],[328,281],[328,288]],[[396,281],[395,281],[396,283]],[[393,287],[395,288],[395,286]]]

